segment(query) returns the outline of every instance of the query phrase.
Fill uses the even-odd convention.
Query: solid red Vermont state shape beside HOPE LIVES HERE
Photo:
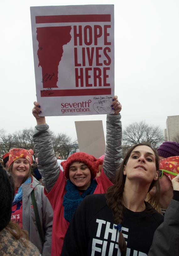
[[[37,51],[42,67],[43,88],[58,88],[58,65],[62,59],[63,45],[71,40],[71,26],[38,27]]]

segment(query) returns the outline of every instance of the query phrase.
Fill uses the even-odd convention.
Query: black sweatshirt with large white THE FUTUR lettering
[[[143,212],[125,209],[122,234],[127,242],[127,256],[144,256],[149,252],[155,230],[163,216],[145,202]],[[151,210],[149,212],[149,210]],[[104,194],[86,196],[68,227],[61,256],[119,256],[119,232]]]

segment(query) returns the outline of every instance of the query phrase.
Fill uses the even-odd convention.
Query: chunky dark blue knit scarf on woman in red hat
[[[93,179],[91,181],[90,186],[83,194],[79,194],[77,187],[68,179],[67,184],[65,186],[66,194],[63,197],[63,206],[64,206],[64,218],[70,222],[78,207],[79,203],[83,200],[83,198],[87,195],[93,194],[96,189],[97,183]]]

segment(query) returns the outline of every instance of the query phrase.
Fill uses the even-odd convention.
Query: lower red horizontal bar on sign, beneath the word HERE
[[[111,95],[111,88],[41,90],[41,97]]]

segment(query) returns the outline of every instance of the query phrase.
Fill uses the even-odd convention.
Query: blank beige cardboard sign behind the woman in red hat
[[[99,158],[104,155],[105,137],[102,120],[76,121],[79,151]]]

